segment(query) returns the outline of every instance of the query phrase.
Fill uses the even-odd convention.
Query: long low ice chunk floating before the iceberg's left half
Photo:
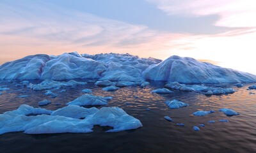
[[[85,85],[86,82],[76,82],[75,80],[70,80],[68,82],[57,82],[54,80],[44,80],[40,84],[29,84],[29,87],[35,91],[52,89],[52,88],[61,88],[61,87],[69,87],[74,85]]]

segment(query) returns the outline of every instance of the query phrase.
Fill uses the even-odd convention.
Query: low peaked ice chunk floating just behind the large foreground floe
[[[93,96],[92,94],[84,94],[74,101],[70,101],[67,105],[78,105],[78,106],[85,106],[85,105],[107,105],[108,98],[104,98],[102,96]]]

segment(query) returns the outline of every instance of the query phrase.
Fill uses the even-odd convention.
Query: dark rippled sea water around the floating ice
[[[256,90],[246,90],[250,84],[237,88],[234,94],[205,96],[196,92],[175,91],[172,94],[154,94],[153,89],[163,87],[153,82],[144,89],[123,87],[115,92],[102,91],[93,83],[64,87],[67,92],[50,98],[44,91],[32,91],[16,87],[15,83],[1,82],[11,89],[0,96],[0,113],[15,110],[22,104],[38,107],[38,101],[49,99],[50,105],[42,106],[56,110],[80,96],[83,89],[92,89],[97,96],[113,96],[108,106],[123,108],[129,115],[140,119],[143,127],[118,133],[105,133],[99,126],[93,133],[63,133],[54,135],[26,135],[22,132],[0,135],[0,152],[256,152]],[[21,89],[21,90],[19,90]],[[17,91],[19,90],[19,91]],[[28,95],[28,98],[17,98]],[[189,106],[170,110],[164,101],[179,99]],[[127,102],[131,105],[127,105]],[[60,103],[61,105],[56,105]],[[145,110],[150,108],[150,111]],[[232,108],[241,115],[227,117],[218,112],[220,108]],[[191,115],[197,110],[216,110],[205,117]],[[168,122],[168,115],[175,121]],[[229,122],[218,122],[227,119]],[[208,120],[216,120],[208,123]],[[176,123],[185,124],[184,127]],[[205,128],[193,131],[193,126],[204,123]]]

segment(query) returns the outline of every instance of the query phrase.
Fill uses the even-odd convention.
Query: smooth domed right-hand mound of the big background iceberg
[[[143,77],[149,80],[196,84],[256,81],[256,76],[250,73],[221,68],[209,62],[200,62],[190,57],[177,55],[159,64],[150,65],[143,71]]]

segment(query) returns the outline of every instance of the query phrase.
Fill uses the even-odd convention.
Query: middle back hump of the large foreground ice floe
[[[81,119],[88,117],[88,115],[92,115],[99,111],[97,108],[84,108],[82,106],[76,106],[76,105],[68,105],[66,107],[60,108],[58,110],[55,110],[51,113],[52,116],[64,116],[64,117],[71,117],[74,119]]]

